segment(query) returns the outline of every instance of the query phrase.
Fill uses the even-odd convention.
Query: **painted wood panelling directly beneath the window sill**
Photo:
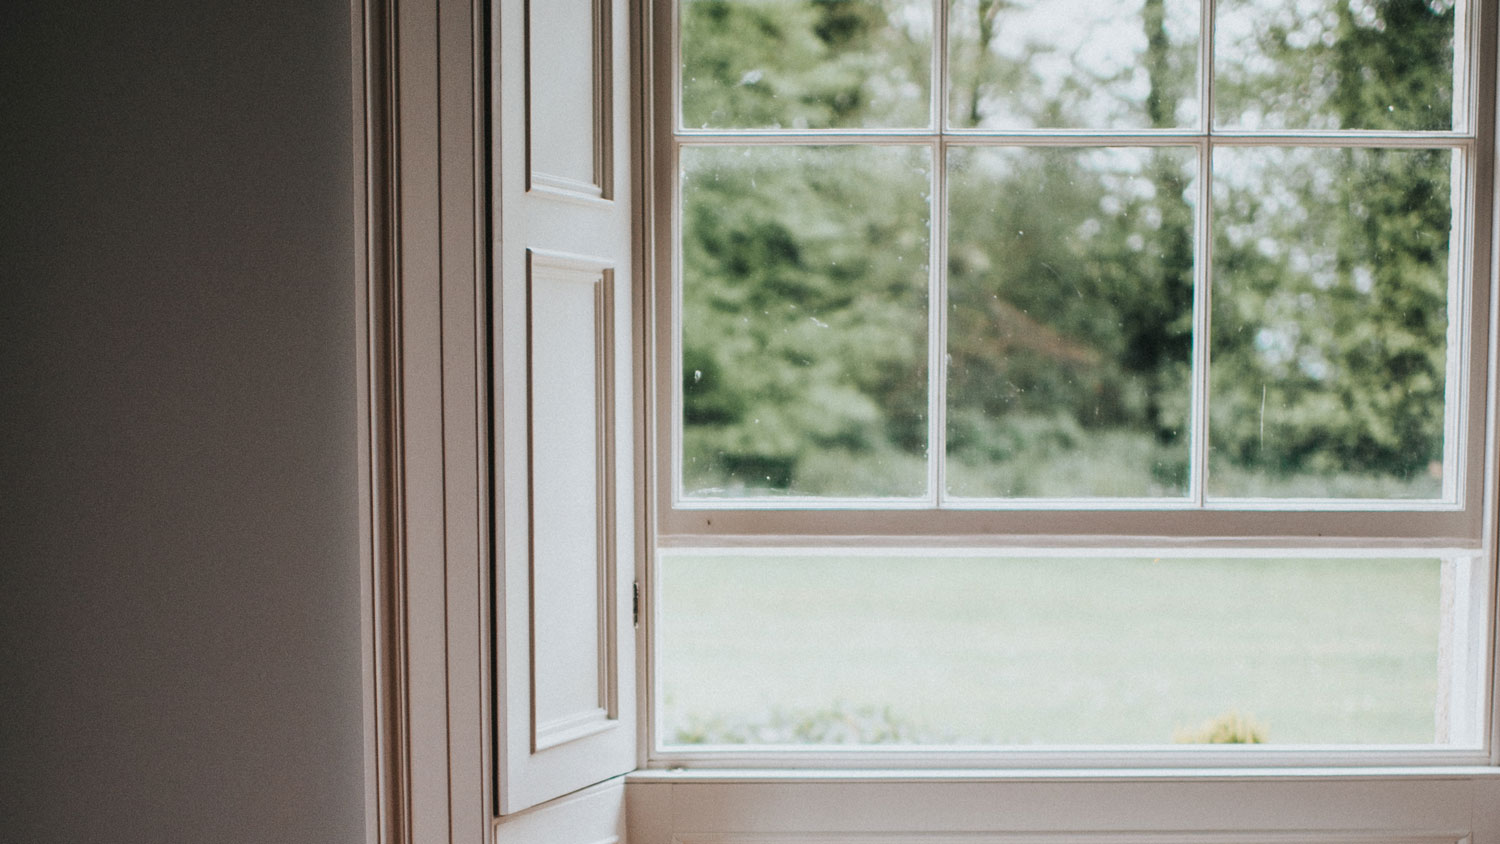
[[[632,844],[1494,844],[1494,771],[1478,778],[1260,777],[861,780],[740,772],[628,778]]]

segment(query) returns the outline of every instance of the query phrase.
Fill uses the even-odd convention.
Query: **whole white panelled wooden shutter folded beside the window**
[[[494,90],[498,790],[636,762],[626,0],[501,0]]]

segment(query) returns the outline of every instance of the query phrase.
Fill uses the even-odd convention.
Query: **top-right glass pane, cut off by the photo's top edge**
[[[1450,129],[1461,12],[1455,0],[1220,0],[1215,121]]]

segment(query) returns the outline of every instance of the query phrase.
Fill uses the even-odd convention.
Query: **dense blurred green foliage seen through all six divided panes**
[[[686,0],[684,123],[926,127],[930,7]],[[954,0],[950,118],[1191,127],[1196,15],[1180,0]],[[1450,124],[1452,3],[1226,0],[1218,31],[1221,124]],[[951,492],[1182,495],[1206,246],[1192,147],[932,156],[684,150],[686,489],[920,495],[940,307]],[[1215,153],[1210,493],[1440,490],[1452,163],[1440,148]]]

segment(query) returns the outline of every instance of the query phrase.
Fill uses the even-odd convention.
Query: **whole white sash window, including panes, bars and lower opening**
[[[1488,757],[1476,4],[656,10],[658,763]]]

